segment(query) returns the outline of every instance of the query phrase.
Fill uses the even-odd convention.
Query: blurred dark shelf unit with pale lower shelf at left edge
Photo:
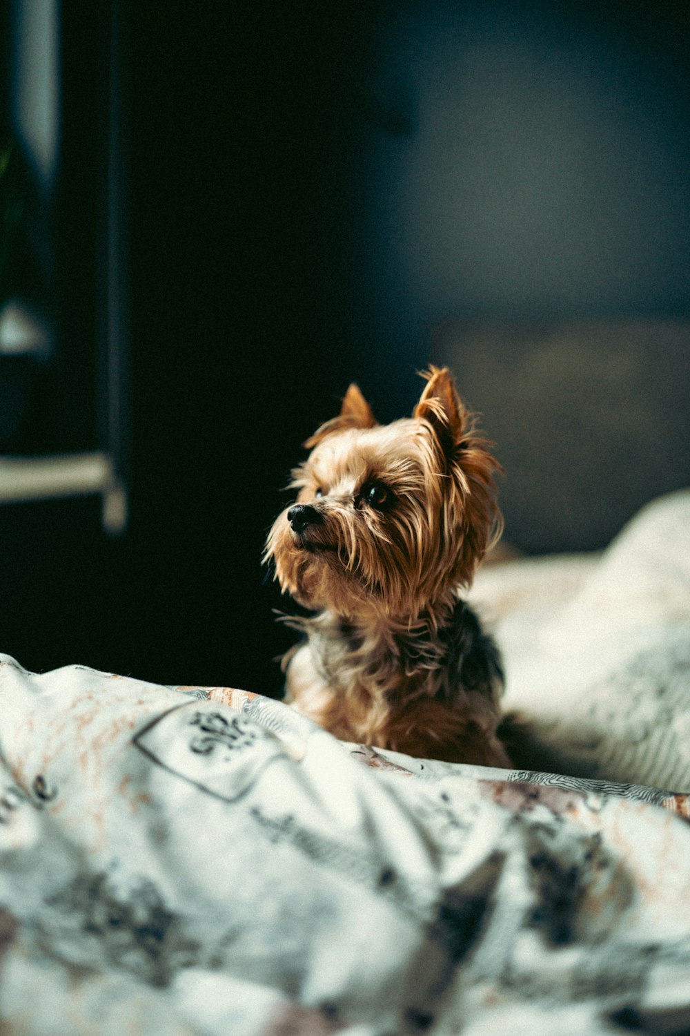
[[[91,121],[78,126],[73,17],[54,0],[0,16],[0,503],[100,494],[117,534],[129,438],[122,91],[118,6],[100,7]]]

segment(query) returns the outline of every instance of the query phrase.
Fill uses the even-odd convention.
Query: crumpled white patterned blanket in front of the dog
[[[0,1031],[690,1028],[688,800],[0,656]]]

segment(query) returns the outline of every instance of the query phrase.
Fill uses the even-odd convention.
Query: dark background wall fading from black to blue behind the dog
[[[5,453],[97,439],[112,9],[62,5],[60,347],[32,374]],[[299,443],[351,379],[389,420],[412,407],[416,369],[462,365],[461,342],[439,335],[449,322],[687,318],[688,5],[115,9],[130,521],[113,540],[95,500],[0,511],[1,646],[34,669],[80,661],[276,693],[272,658],[291,635],[273,621],[283,602],[263,582],[262,544]],[[496,355],[478,341],[480,374],[514,384],[505,334]],[[500,409],[505,394],[487,399]],[[662,489],[690,476],[686,461]],[[518,546],[603,545],[601,526],[567,523],[531,539],[532,513],[516,506],[511,526],[507,509]]]

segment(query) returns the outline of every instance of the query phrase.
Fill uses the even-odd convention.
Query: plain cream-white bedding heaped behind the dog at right
[[[480,571],[472,601],[526,721],[520,765],[690,792],[690,490],[601,554]]]

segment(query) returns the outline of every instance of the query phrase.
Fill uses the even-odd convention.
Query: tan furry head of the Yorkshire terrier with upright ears
[[[446,368],[412,418],[379,425],[357,385],[307,439],[266,558],[284,593],[343,617],[414,620],[469,585],[501,526],[500,465]]]

